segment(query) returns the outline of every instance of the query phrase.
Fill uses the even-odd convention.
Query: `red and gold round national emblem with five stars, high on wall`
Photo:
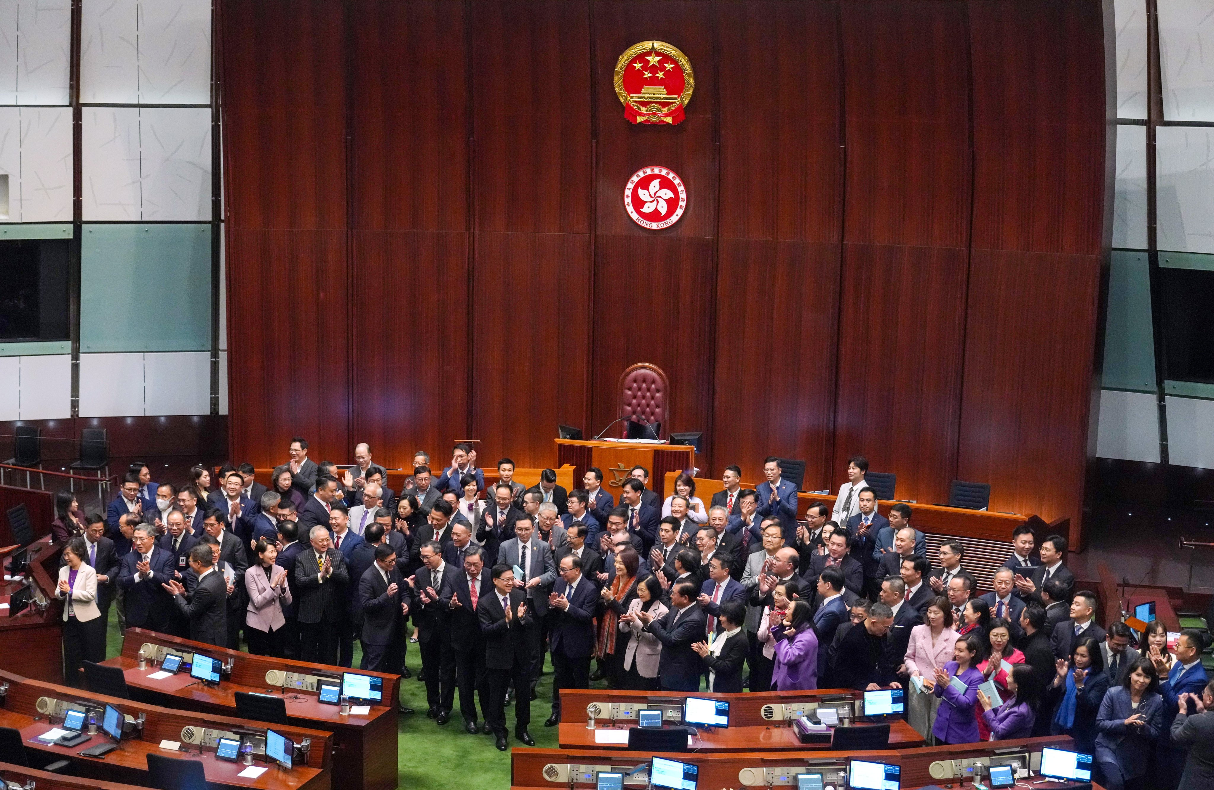
[[[641,41],[615,62],[615,95],[634,124],[677,124],[696,89],[691,62],[665,41]]]

